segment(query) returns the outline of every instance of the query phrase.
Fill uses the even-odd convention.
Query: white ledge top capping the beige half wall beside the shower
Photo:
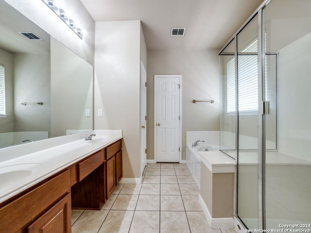
[[[211,173],[232,173],[236,163],[219,151],[198,151],[201,161]]]

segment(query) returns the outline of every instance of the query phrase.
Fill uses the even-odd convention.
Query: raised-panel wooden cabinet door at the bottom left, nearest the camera
[[[71,233],[70,194],[27,227],[28,233]]]

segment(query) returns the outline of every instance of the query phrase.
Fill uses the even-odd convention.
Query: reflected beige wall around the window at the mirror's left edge
[[[12,53],[0,49],[0,64],[5,72],[5,102],[6,118],[0,118],[0,133],[14,131],[14,103],[13,103],[13,57]]]

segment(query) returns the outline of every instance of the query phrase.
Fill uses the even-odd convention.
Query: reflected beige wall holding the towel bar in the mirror
[[[49,131],[50,54],[13,54],[14,131]],[[43,102],[43,105],[21,105]]]

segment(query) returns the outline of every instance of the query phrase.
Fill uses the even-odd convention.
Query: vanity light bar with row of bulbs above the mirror
[[[49,6],[52,11],[60,17],[73,32],[75,32],[81,39],[83,38],[83,33],[81,28],[79,28],[72,18],[69,18],[64,9],[62,9],[57,3],[56,0],[42,0],[47,6]]]

